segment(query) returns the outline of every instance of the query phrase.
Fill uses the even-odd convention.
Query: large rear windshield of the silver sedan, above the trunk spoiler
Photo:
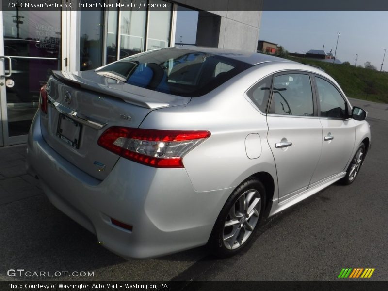
[[[190,49],[160,49],[98,69],[100,75],[163,93],[202,96],[252,65]]]

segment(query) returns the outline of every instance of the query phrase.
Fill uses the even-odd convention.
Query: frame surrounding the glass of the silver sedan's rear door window
[[[275,78],[277,76],[282,76],[282,75],[287,75],[287,74],[308,75],[308,77],[310,78],[312,105],[313,105],[313,115],[312,116],[302,116],[302,115],[292,115],[292,114],[291,115],[290,114],[277,114],[277,113],[270,113],[269,112],[270,108],[271,108],[272,100],[274,98],[273,88],[274,88]],[[315,90],[315,79],[313,78],[314,75],[315,75],[314,73],[311,73],[308,71],[302,71],[302,70],[285,70],[285,71],[280,71],[280,72],[276,72],[275,74],[272,74],[271,92],[270,92],[270,98],[269,98],[269,101],[267,104],[267,110],[266,110],[267,116],[281,116],[281,117],[294,117],[294,118],[317,118],[317,117],[319,117],[318,116],[318,106],[317,106],[318,99],[317,99],[317,95],[316,95],[317,91]]]

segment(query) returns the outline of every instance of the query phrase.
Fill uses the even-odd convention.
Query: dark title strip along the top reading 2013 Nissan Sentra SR
[[[174,1],[161,4],[152,0],[3,0],[2,10],[171,10]],[[177,0],[178,5],[195,3],[195,9],[206,11],[388,11],[386,0]],[[178,10],[179,7],[178,6]]]

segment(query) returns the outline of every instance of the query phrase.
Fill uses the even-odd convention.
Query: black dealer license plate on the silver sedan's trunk
[[[63,114],[59,115],[57,136],[69,146],[80,147],[81,129],[81,123]]]

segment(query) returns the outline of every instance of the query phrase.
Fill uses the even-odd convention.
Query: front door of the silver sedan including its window
[[[319,119],[323,127],[322,153],[310,184],[345,171],[355,145],[356,124],[349,105],[331,81],[314,76]]]

